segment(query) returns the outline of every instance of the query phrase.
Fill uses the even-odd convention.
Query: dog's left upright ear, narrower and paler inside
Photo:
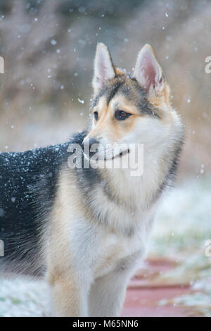
[[[96,56],[94,59],[94,77],[92,86],[94,94],[97,94],[103,87],[106,80],[111,80],[115,77],[115,69],[110,57],[110,53],[106,45],[100,43],[96,48]]]

